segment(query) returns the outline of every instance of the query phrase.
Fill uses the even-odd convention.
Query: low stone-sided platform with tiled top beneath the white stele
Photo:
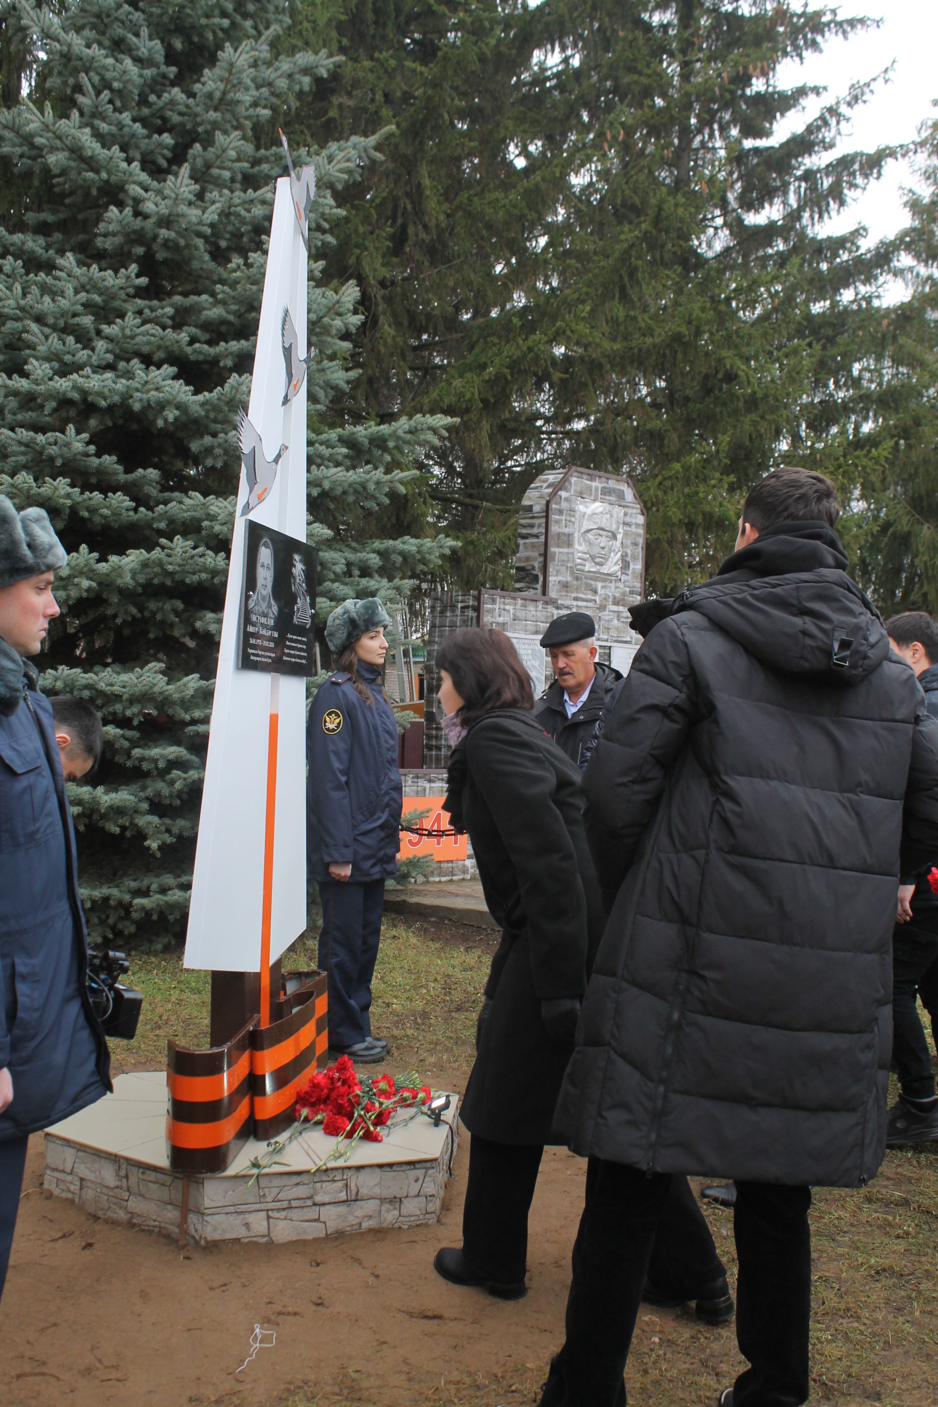
[[[281,1164],[250,1183],[249,1140],[222,1173],[188,1178],[186,1235],[210,1241],[298,1241],[437,1221],[458,1138],[458,1097],[440,1126],[402,1110],[383,1142],[360,1140],[347,1161],[314,1171],[335,1147],[305,1128]],[[146,1231],[181,1234],[183,1173],[166,1154],[166,1074],[118,1075],[114,1093],[53,1124],[45,1134],[45,1188],[94,1216]]]

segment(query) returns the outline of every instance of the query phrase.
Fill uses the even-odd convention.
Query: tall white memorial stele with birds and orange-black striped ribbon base
[[[285,141],[284,151],[290,162]],[[274,632],[277,616],[287,618],[271,542],[287,535],[297,552],[307,542],[307,398],[297,394],[307,359],[297,329],[305,339],[315,169],[298,179],[290,162],[290,172],[277,182],[250,402],[238,412],[239,507],[186,938],[186,967],[212,972],[211,1048],[170,1041],[167,1052],[169,1165],[186,1173],[221,1172],[249,1137],[288,1128],[297,1089],[326,1059],[325,976],[283,981],[278,962],[307,926],[305,678],[278,664],[245,668],[238,647],[243,629]],[[264,446],[274,445],[269,457]],[[262,537],[266,613],[255,605],[245,622],[248,522],[270,540]]]

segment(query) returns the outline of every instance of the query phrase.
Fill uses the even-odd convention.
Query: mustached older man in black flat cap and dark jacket
[[[550,651],[554,682],[534,705],[534,716],[557,746],[585,767],[596,723],[612,708],[622,674],[596,661],[596,623],[585,611],[568,611],[544,630],[540,643]]]

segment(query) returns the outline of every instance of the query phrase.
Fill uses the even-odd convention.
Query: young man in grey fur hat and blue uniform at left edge
[[[28,1135],[111,1088],[52,708],[28,660],[66,560],[42,508],[18,514],[0,494],[0,1293]]]

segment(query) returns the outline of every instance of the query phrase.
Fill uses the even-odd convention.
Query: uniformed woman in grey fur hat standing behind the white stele
[[[329,1047],[361,1064],[387,1054],[387,1041],[371,1036],[371,976],[384,881],[397,874],[401,846],[398,730],[381,685],[390,625],[375,597],[332,612],[326,643],[336,670],[316,692],[307,732],[308,867],[322,902]]]

